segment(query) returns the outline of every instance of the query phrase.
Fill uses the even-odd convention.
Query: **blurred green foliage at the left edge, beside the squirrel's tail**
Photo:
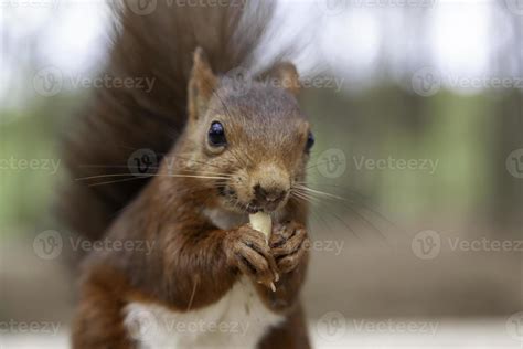
[[[54,221],[53,202],[63,174],[60,140],[67,133],[66,119],[82,104],[77,95],[38,98],[29,106],[2,110],[0,124],[0,234],[31,233]],[[6,163],[12,161],[15,166]],[[21,169],[19,161],[38,160],[38,169]],[[54,172],[51,162],[58,165]],[[58,162],[60,161],[60,162]],[[24,229],[26,228],[26,229]]]

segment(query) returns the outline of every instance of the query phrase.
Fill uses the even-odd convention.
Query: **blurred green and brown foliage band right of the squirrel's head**
[[[523,146],[522,118],[517,108],[503,112],[511,103],[521,106],[521,92],[466,96],[441,91],[421,97],[383,86],[360,96],[314,91],[302,102],[318,133],[314,155],[337,148],[346,156],[348,169],[333,183],[312,173],[311,183],[322,190],[330,187],[330,192],[349,198],[356,192],[381,212],[408,221],[450,216],[521,226],[523,192],[506,171],[505,159]],[[506,123],[512,128],[502,130]],[[362,156],[430,160],[437,169],[359,169]],[[509,189],[500,190],[500,183]]]

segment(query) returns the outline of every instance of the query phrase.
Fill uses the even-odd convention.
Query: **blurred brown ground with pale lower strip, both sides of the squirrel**
[[[303,294],[316,348],[522,348],[523,337],[511,337],[508,320],[522,308],[520,254],[500,258],[447,246],[421,260],[408,236],[376,245],[346,232],[318,236],[320,229]],[[342,248],[330,251],[328,241]],[[31,336],[2,331],[0,348],[66,348],[72,269],[61,258],[38,257],[29,239],[2,244],[0,255],[12,266],[1,268],[0,314],[36,324]],[[44,330],[51,326],[57,336]]]

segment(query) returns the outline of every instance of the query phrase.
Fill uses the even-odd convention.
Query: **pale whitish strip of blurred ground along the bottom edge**
[[[357,324],[362,320],[348,320]],[[387,324],[396,321],[396,325],[425,324],[437,325],[437,331],[412,332],[402,329],[387,330]],[[349,329],[345,334],[324,335],[318,332],[321,325],[311,326],[310,334],[313,348],[427,348],[427,349],[517,349],[522,343],[506,336],[505,321],[503,319],[474,319],[474,320],[426,320],[426,319],[372,319],[365,320],[367,325],[383,326],[376,331],[359,331]],[[394,325],[393,325],[394,326]],[[68,348],[67,334],[60,332],[57,336],[20,336],[8,335],[2,337],[2,349],[33,349],[33,348]]]

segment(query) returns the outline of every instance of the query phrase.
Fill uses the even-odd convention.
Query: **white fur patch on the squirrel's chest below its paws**
[[[142,349],[255,348],[270,327],[284,320],[265,307],[246,277],[203,309],[178,313],[131,303],[125,316],[130,337]]]

